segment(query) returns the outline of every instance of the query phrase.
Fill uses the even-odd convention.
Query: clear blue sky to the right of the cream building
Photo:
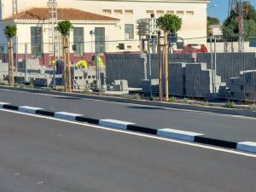
[[[256,0],[251,0],[251,4],[256,8]],[[217,7],[213,7],[214,4],[217,4]],[[217,17],[221,22],[228,15],[229,0],[212,0],[208,4],[207,13],[209,16]]]

